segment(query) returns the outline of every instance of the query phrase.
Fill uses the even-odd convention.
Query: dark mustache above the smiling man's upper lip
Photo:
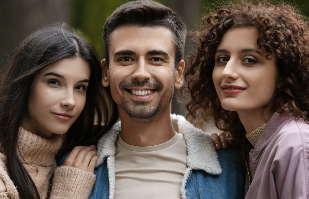
[[[138,81],[138,80],[132,80],[132,81],[122,81],[119,84],[119,88],[121,90],[130,89],[133,87],[147,87],[151,89],[157,89],[159,92],[163,89],[163,85],[159,81]]]

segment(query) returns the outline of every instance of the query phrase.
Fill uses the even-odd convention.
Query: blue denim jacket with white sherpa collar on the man
[[[179,115],[171,115],[171,121],[187,143],[188,168],[179,187],[181,198],[243,198],[246,166],[239,162],[242,153],[232,147],[216,152],[208,133]],[[98,142],[96,182],[90,199],[114,197],[116,140],[120,130],[121,123],[117,122]]]

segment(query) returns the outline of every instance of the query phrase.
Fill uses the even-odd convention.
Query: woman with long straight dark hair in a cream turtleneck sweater
[[[89,196],[94,144],[118,118],[101,74],[92,48],[65,24],[19,45],[0,85],[0,198]],[[72,149],[56,169],[56,157]]]

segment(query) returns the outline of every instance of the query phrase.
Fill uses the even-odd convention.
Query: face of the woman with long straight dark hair
[[[90,66],[82,58],[62,58],[43,68],[34,78],[23,128],[49,138],[64,134],[86,102]]]

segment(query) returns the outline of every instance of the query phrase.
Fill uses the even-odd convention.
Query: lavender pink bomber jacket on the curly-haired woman
[[[309,124],[275,113],[250,151],[245,199],[309,199]]]

